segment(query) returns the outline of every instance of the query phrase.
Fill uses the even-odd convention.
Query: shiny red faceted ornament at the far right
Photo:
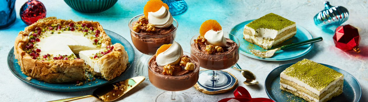
[[[351,25],[337,27],[333,35],[333,41],[335,46],[343,51],[354,50],[355,52],[360,52],[358,47],[360,41],[359,32],[357,28]]]

